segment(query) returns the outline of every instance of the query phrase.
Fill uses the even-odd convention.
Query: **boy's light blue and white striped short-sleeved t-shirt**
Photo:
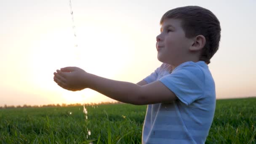
[[[146,77],[162,82],[177,96],[171,103],[149,104],[143,144],[204,144],[213,121],[215,84],[204,61],[188,61],[172,70],[162,64]]]

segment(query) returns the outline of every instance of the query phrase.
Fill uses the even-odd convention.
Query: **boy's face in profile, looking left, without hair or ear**
[[[157,35],[157,58],[159,61],[178,66],[189,56],[193,40],[185,37],[179,19],[165,19],[161,33]]]

